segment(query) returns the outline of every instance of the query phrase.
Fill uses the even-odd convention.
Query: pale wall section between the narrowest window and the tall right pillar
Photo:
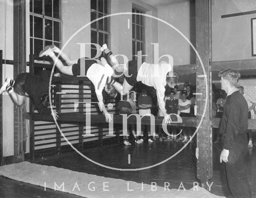
[[[177,28],[190,40],[190,4],[188,2],[158,9],[158,18]],[[173,28],[158,22],[159,56],[172,55],[174,65],[190,64],[190,45]]]

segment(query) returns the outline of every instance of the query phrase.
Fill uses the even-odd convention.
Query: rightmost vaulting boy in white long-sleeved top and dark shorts
[[[102,51],[104,51],[104,57],[107,57],[107,59],[101,59],[103,64],[109,63],[110,65],[113,65],[113,67],[116,66],[116,64],[119,64],[118,60],[114,57],[106,44],[102,46]],[[164,61],[159,64],[149,64],[144,62],[140,66],[139,71],[137,61],[128,61],[128,68],[120,66],[120,64],[115,68],[116,73],[125,74],[123,85],[116,81],[114,81],[112,85],[122,95],[129,93],[138,81],[141,81],[143,84],[150,87],[154,87],[156,89],[159,109],[164,115],[166,123],[170,123],[171,118],[166,113],[164,107],[164,87],[167,83],[175,85],[178,79],[178,75],[171,76],[170,71],[172,71],[172,66]]]

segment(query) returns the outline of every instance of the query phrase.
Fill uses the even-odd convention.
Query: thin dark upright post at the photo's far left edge
[[[0,50],[0,87],[3,82],[3,51]],[[3,165],[3,95],[0,94],[0,166]]]

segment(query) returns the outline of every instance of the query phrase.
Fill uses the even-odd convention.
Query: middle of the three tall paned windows
[[[110,0],[91,0],[91,21],[110,14]],[[91,24],[91,43],[110,44],[110,18],[97,20]],[[91,46],[91,57],[95,57],[96,47]]]

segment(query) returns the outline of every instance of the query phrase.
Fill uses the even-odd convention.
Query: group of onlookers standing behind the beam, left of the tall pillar
[[[184,84],[175,85],[169,87],[166,85],[164,102],[166,112],[168,114],[178,114],[180,117],[194,117],[194,106],[196,105],[196,98],[194,86],[185,82]],[[140,116],[154,115],[163,116],[158,109],[156,90],[148,87],[142,88],[140,91],[130,92],[127,96],[124,96],[122,100],[118,102],[120,114],[130,115],[132,113],[138,113]],[[167,126],[167,135],[162,126],[156,126],[156,133],[150,135],[150,125],[142,125],[141,130],[138,131],[135,124],[128,124],[127,134],[131,130],[132,136],[136,144],[141,144],[145,140],[152,143],[159,138],[159,141],[182,141],[187,142],[192,137],[195,129],[194,127],[175,127]],[[129,136],[123,136],[124,144],[131,145],[129,142]],[[130,138],[132,139],[132,138]],[[192,140],[190,141],[192,142]]]

